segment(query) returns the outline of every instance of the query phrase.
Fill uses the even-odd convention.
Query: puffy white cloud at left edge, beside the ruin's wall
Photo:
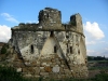
[[[8,42],[11,38],[11,28],[6,25],[0,25],[0,42]]]

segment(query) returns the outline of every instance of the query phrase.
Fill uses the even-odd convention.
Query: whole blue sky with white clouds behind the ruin
[[[62,22],[80,13],[87,55],[108,57],[108,0],[0,0],[0,42],[11,38],[11,27],[19,23],[38,23],[44,8],[62,11]]]

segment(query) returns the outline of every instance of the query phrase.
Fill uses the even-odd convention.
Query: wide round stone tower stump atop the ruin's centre
[[[62,26],[60,11],[45,8],[39,12],[39,24],[44,28],[59,28]],[[55,28],[55,29],[56,29]]]

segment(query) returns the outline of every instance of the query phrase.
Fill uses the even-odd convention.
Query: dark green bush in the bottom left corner
[[[22,77],[19,72],[12,67],[0,66],[0,81],[29,81]]]

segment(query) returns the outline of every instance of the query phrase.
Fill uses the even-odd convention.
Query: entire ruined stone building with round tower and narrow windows
[[[60,11],[45,8],[38,24],[12,28],[12,65],[25,77],[86,78],[86,48],[80,14],[62,24]]]

